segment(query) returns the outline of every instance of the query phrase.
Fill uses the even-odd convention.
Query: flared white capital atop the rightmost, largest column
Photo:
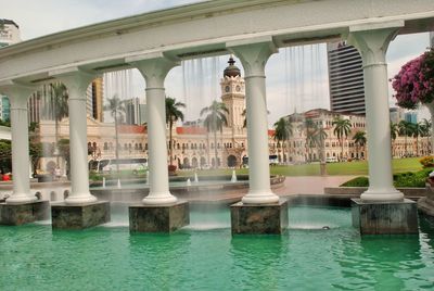
[[[403,21],[355,25],[349,27],[345,38],[360,52],[365,67],[376,64],[385,65],[388,45],[403,26]]]

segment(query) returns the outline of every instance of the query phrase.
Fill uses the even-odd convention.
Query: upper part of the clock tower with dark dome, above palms
[[[241,77],[240,68],[234,64],[233,58],[229,58],[229,66],[225,68],[221,78],[221,100],[229,110],[228,127],[242,130],[244,124],[243,111],[245,109],[245,84]],[[237,130],[237,131],[238,131]]]

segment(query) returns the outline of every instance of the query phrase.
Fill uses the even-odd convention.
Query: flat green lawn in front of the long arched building
[[[422,169],[419,163],[420,157],[408,157],[393,160],[394,173],[416,172]],[[289,165],[289,166],[271,166],[271,175],[282,176],[319,176],[319,164]],[[199,170],[199,175],[230,175],[231,169],[208,169]],[[247,169],[237,169],[237,174],[247,174]],[[328,175],[368,175],[368,162],[346,162],[327,164]],[[179,175],[192,175],[192,172],[179,172]]]

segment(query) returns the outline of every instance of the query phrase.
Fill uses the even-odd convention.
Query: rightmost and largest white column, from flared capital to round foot
[[[350,27],[348,41],[363,61],[368,134],[369,188],[363,201],[400,201],[404,194],[393,186],[387,64],[385,54],[401,22]]]

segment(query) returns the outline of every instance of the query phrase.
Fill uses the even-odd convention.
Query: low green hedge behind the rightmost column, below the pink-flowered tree
[[[431,172],[433,172],[433,168],[424,168],[419,172],[407,172],[407,173],[395,174],[393,176],[394,186],[423,188],[425,187],[425,180]],[[341,185],[341,187],[368,187],[368,186],[369,186],[369,179],[367,177],[357,177]]]

